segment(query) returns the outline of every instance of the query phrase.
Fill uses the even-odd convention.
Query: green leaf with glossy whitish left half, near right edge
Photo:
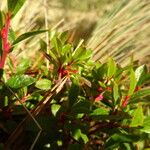
[[[135,77],[137,80],[137,85],[142,85],[146,79],[148,70],[146,65],[142,65],[135,70]]]

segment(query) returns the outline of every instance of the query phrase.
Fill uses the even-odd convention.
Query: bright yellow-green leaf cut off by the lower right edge
[[[150,134],[150,116],[144,119],[141,131]]]

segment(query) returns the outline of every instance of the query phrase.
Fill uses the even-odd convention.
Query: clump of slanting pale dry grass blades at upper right
[[[88,41],[94,60],[105,62],[109,56],[127,65],[130,58],[142,59],[150,54],[150,2],[132,0],[116,3],[100,18]]]

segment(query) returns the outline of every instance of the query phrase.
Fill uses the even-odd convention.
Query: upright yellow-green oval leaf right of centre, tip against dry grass
[[[109,58],[107,65],[108,65],[107,76],[111,78],[116,73],[116,63],[112,58]]]

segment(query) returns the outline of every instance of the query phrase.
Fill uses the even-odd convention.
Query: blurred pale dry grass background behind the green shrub
[[[2,10],[7,11],[6,3],[0,1]],[[69,31],[71,41],[84,39],[95,61],[111,56],[122,66],[134,61],[150,67],[149,0],[26,0],[12,28],[17,35],[45,28]],[[39,38],[46,36],[26,40],[14,55],[35,55]]]

